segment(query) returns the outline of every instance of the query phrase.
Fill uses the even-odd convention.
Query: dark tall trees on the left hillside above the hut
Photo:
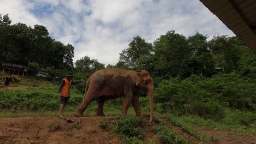
[[[44,26],[34,25],[32,28],[24,23],[11,25],[8,14],[1,14],[0,32],[0,62],[24,65],[34,62],[42,65],[42,68],[55,69],[73,67],[74,47],[51,38]]]

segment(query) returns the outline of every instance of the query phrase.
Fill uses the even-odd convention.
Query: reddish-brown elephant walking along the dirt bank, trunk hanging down
[[[88,105],[96,100],[98,104],[97,116],[104,116],[103,105],[107,99],[123,98],[122,115],[127,113],[132,103],[136,116],[141,116],[139,104],[139,89],[149,95],[150,118],[153,121],[153,79],[147,70],[126,70],[119,68],[107,68],[96,71],[86,83],[84,99],[74,112],[74,116],[82,117]]]

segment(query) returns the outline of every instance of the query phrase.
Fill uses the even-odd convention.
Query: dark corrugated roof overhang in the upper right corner
[[[256,52],[255,0],[200,0],[212,13]]]

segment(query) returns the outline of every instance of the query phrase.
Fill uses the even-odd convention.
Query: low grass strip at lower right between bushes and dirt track
[[[235,132],[239,131],[240,133],[246,133],[246,134],[256,134],[256,130],[255,130],[256,123],[254,120],[255,113],[247,112],[246,118],[238,116],[237,113],[242,113],[242,112],[228,110],[226,111],[226,113],[228,116],[226,116],[226,118],[224,119],[220,119],[219,121],[214,121],[213,119],[204,119],[204,118],[200,118],[198,116],[193,116],[193,115],[183,115],[183,116],[167,115],[167,117],[174,125],[181,127],[184,131],[187,131],[187,132],[190,131],[188,133],[195,135],[198,139],[204,139],[205,136],[195,133],[196,131],[192,129],[194,125],[200,125],[202,127],[210,127],[214,130],[231,130]],[[238,119],[237,121],[236,121],[236,118]],[[246,125],[248,126],[246,126],[245,124],[241,124],[241,121],[243,121],[241,119],[246,119],[247,121]]]

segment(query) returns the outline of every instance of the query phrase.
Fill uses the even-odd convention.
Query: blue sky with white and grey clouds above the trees
[[[235,36],[199,0],[0,0],[0,14],[9,14],[12,24],[45,26],[74,46],[74,63],[89,56],[105,66],[116,64],[137,35],[148,43],[172,30],[187,38]]]

